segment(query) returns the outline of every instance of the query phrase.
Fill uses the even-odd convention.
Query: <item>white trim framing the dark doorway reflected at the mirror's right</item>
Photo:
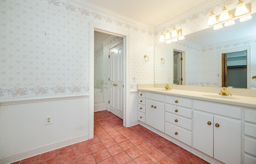
[[[222,54],[223,53],[232,53],[238,51],[247,51],[247,88],[252,88],[252,80],[251,80],[251,46],[244,46],[244,47],[236,47],[232,49],[223,49],[218,51],[218,60],[219,60],[219,79],[218,79],[218,86],[221,87],[222,85]]]

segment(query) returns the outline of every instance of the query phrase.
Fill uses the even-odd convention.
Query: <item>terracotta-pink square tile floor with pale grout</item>
[[[108,111],[94,113],[94,138],[14,164],[208,164],[141,125],[125,128]]]

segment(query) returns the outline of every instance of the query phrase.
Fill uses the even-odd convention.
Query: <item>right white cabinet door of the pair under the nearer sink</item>
[[[226,164],[242,162],[241,128],[241,121],[214,116],[214,158]]]

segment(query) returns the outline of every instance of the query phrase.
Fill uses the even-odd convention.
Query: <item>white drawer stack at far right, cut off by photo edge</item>
[[[244,109],[244,164],[256,164],[256,109]]]

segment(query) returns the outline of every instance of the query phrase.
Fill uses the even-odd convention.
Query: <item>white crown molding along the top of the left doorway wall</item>
[[[151,27],[151,26],[148,26],[148,25],[145,25],[143,23],[140,23],[136,20],[132,20],[131,18],[128,18],[126,16],[123,16],[121,14],[118,14],[116,12],[112,12],[111,10],[108,10],[106,8],[102,8],[100,6],[97,6],[95,4],[92,4],[90,2],[87,2],[85,0],[66,0],[66,2],[70,2],[72,4],[76,4],[76,5],[79,5],[79,6],[82,6],[82,7],[86,7],[88,9],[91,9],[91,10],[94,10],[94,11],[97,11],[97,12],[100,12],[102,14],[106,14],[108,16],[112,16],[116,19],[120,19],[120,20],[123,20],[127,23],[131,23],[131,24],[134,24],[134,25],[137,25],[137,26],[140,26],[140,27],[143,27],[145,29],[148,29],[150,31],[153,31],[154,32],[154,27]]]

